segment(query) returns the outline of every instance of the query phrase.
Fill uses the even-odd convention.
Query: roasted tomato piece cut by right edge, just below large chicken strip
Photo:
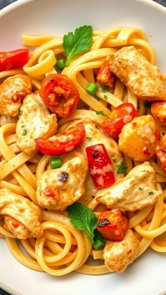
[[[152,101],[150,109],[157,123],[166,126],[166,100]]]

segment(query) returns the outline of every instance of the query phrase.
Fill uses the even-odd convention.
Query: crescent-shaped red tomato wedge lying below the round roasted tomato
[[[84,137],[85,128],[81,122],[48,139],[36,138],[35,142],[38,150],[44,154],[62,155],[76,148]]]

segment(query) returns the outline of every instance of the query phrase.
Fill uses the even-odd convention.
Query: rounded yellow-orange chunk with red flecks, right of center
[[[129,158],[144,162],[152,159],[162,143],[160,130],[151,115],[135,117],[123,126],[118,147]]]

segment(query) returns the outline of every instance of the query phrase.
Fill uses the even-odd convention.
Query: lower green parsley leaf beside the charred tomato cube
[[[74,203],[67,207],[70,222],[77,230],[84,230],[88,239],[94,244],[94,230],[97,227],[97,218],[92,209],[81,203]]]

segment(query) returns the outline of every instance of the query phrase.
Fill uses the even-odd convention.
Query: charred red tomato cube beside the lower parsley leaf
[[[119,209],[104,209],[100,212],[97,230],[109,241],[120,242],[128,230],[128,217]]]

